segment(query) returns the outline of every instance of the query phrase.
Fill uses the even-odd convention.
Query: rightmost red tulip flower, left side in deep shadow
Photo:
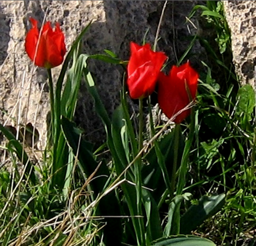
[[[192,100],[196,97],[198,77],[198,73],[190,67],[189,62],[180,67],[173,66],[169,76],[164,75],[163,72],[159,73],[158,103],[169,119],[190,102],[185,84]],[[174,119],[174,122],[179,124],[189,114],[190,109],[183,111]]]

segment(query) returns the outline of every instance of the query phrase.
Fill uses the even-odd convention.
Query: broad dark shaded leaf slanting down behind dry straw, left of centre
[[[77,130],[74,123],[65,117],[63,117],[61,123],[68,144],[71,146],[73,154],[77,155],[79,160],[78,165],[80,166],[82,172],[84,172],[86,176],[89,177],[95,171],[95,169],[97,169],[98,163],[90,150],[88,150],[88,143],[80,138],[79,130]],[[91,145],[89,145],[89,148],[90,146]],[[95,194],[95,197],[97,197],[98,194],[104,192],[103,189],[105,188],[109,177],[110,173],[106,164],[101,163],[94,178],[90,181],[90,185]],[[101,198],[99,202],[98,213],[102,217],[108,216],[105,218],[106,226],[103,229],[106,244],[108,245],[108,243],[111,241],[121,241],[121,219],[118,218],[118,216],[120,216],[120,210],[114,192],[111,192]],[[114,217],[111,218],[111,216]]]

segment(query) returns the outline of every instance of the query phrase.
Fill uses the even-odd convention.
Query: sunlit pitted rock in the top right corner
[[[242,84],[254,87],[256,61],[256,2],[223,1],[232,34],[233,62]]]

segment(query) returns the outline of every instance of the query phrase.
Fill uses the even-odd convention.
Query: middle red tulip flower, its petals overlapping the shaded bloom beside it
[[[127,86],[132,99],[149,96],[155,90],[157,77],[167,56],[154,52],[150,44],[140,46],[130,43],[131,56],[128,63]]]

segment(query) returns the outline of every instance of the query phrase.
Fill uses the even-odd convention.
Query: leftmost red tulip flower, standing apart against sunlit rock
[[[25,50],[29,58],[34,61],[35,65],[43,68],[54,68],[63,63],[67,50],[59,23],[56,23],[53,30],[50,22],[46,22],[39,39],[37,20],[30,18],[30,22],[32,28],[25,40]]]

